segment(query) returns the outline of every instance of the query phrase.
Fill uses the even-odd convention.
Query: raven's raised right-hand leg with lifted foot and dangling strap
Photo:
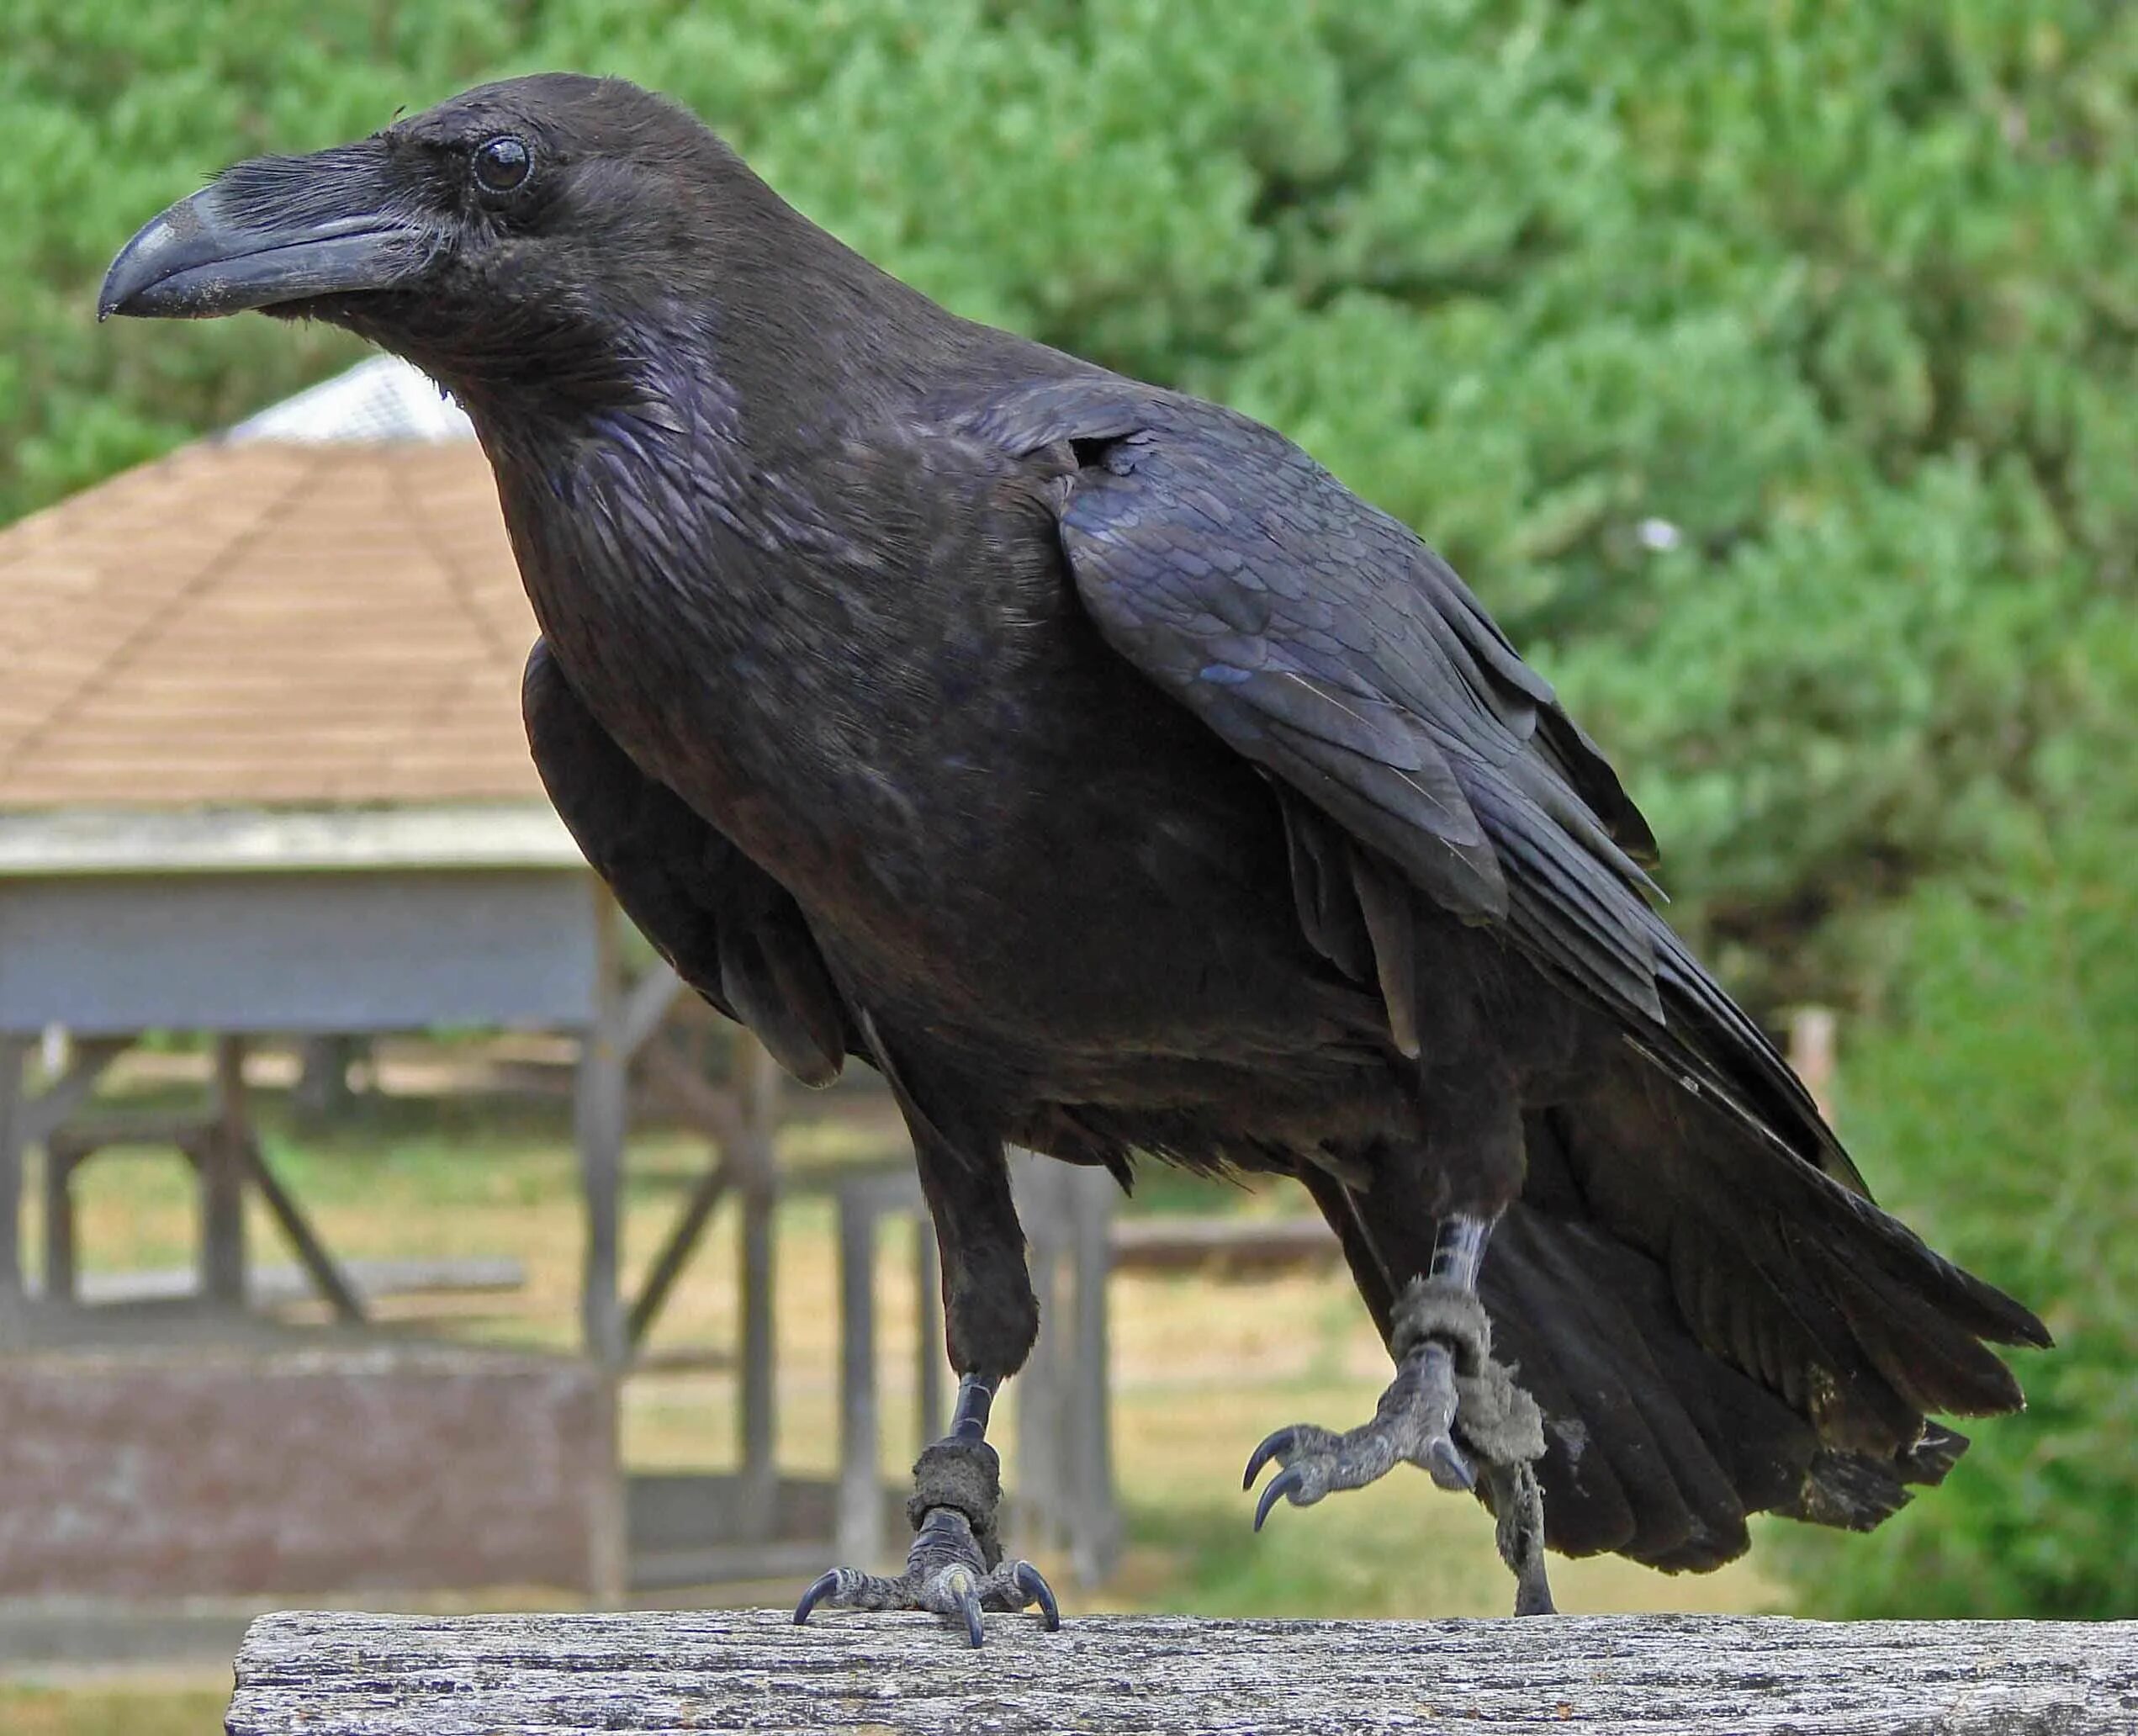
[[[1308,1507],[1336,1490],[1379,1482],[1403,1462],[1422,1467],[1441,1488],[1475,1490],[1475,1458],[1499,1516],[1501,1559],[1516,1576],[1516,1614],[1550,1614],[1544,1497],[1535,1473],[1535,1460],[1544,1456],[1544,1415],[1514,1383],[1514,1373],[1492,1362],[1492,1326],[1477,1300],[1492,1223],[1520,1187],[1520,1125],[1512,1097],[1505,1101],[1505,1114],[1447,1116],[1443,1125],[1454,1122],[1473,1135],[1462,1142],[1465,1148],[1450,1152],[1443,1144],[1441,1152],[1428,1150],[1432,1161],[1409,1174],[1390,1165],[1375,1176],[1364,1199],[1330,1178],[1311,1182],[1323,1210],[1341,1212],[1336,1227],[1353,1272],[1383,1317],[1396,1379],[1381,1394],[1373,1422],[1341,1435],[1315,1424],[1272,1432],[1249,1458],[1244,1486],[1253,1488],[1266,1464],[1281,1467],[1255,1505],[1259,1531],[1281,1499]],[[1514,1122],[1512,1163],[1507,1122]],[[1467,1199],[1456,1206],[1450,1193]],[[1426,1259],[1415,1257],[1424,1251],[1422,1238],[1409,1234],[1424,1223],[1396,1208],[1392,1195],[1405,1202],[1424,1195],[1441,1206],[1441,1214],[1430,1219]],[[1469,1204],[1479,1197],[1490,1204]],[[1368,1204],[1379,1210],[1368,1214]]]

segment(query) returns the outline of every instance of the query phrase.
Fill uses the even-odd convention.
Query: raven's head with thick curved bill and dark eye
[[[678,272],[761,229],[765,203],[684,109],[545,73],[359,143],[227,169],[126,244],[98,316],[259,308],[346,325],[455,389],[554,381],[614,363],[616,334],[688,299]]]

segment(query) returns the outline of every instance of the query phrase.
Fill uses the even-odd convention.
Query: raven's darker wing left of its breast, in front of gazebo
[[[520,706],[543,787],[624,915],[789,1073],[817,1086],[838,1078],[853,1022],[787,889],[637,768],[541,639]]]

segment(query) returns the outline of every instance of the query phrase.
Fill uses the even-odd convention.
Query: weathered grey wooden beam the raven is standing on
[[[231,1736],[1428,1732],[2074,1736],[2138,1727],[2138,1623],[1197,1621],[785,1610],[276,1614]]]

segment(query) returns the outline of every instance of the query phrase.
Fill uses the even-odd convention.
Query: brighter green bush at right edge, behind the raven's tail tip
[[[1888,1204],[2033,1302],[2057,1351],[2020,1358],[2027,1413],[1978,1428],[1877,1535],[1792,1529],[1807,1612],[2138,1610],[2134,808],[2057,838],[2018,889],[1911,900],[1905,1013],[1852,1056],[1845,1131]]]

